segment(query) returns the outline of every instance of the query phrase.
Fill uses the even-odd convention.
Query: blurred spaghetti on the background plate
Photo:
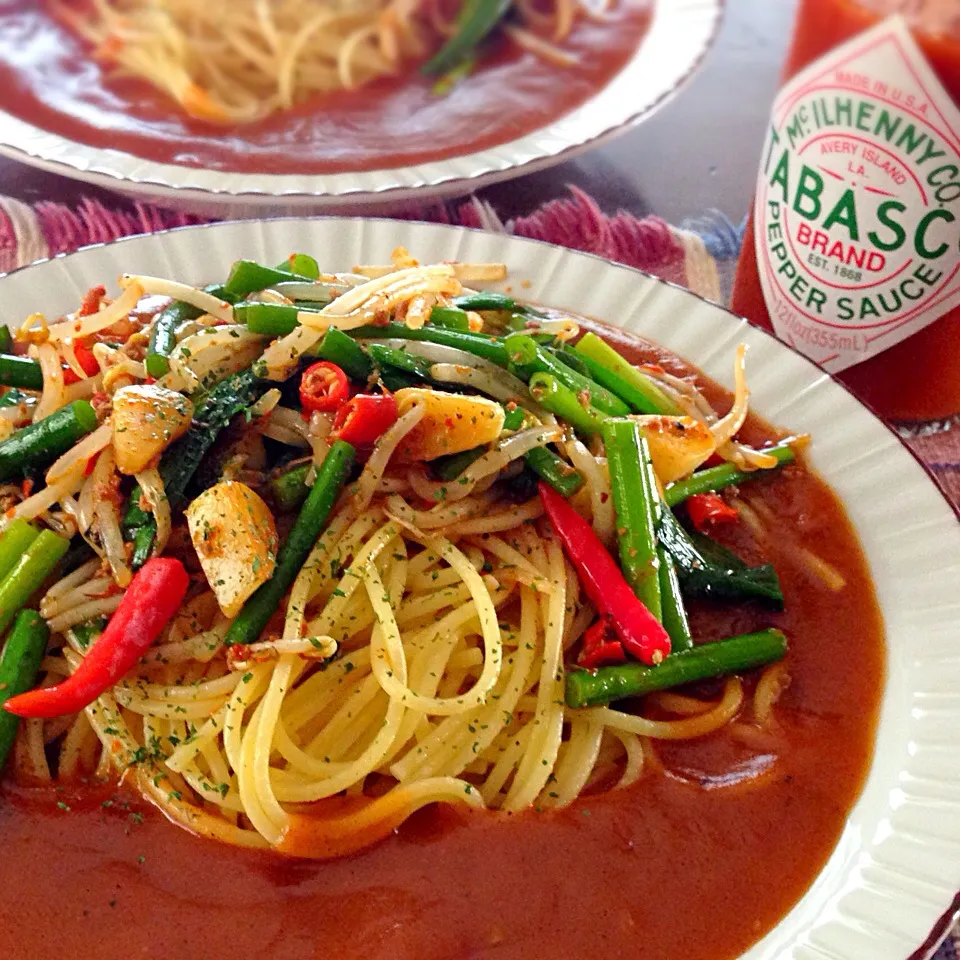
[[[224,124],[396,75],[458,31],[456,9],[436,0],[89,0],[79,9],[59,0],[56,10],[111,69]],[[603,7],[523,0],[514,13],[505,35],[563,66],[575,62],[560,45],[576,18],[600,18]]]

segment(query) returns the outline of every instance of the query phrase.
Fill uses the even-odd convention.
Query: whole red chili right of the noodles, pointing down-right
[[[627,653],[646,664],[660,663],[670,653],[667,631],[630,589],[590,524],[553,487],[541,482],[538,489],[597,613],[609,619]]]

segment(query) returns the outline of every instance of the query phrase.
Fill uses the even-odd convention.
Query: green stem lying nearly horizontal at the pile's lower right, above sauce
[[[786,653],[787,638],[780,630],[761,630],[672,653],[656,667],[628,663],[590,672],[575,671],[567,674],[567,706],[594,707],[624,697],[670,690],[697,680],[763,667],[782,660]]]

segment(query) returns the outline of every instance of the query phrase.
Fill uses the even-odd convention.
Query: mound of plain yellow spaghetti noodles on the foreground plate
[[[669,721],[564,705],[563,656],[594,612],[541,509],[496,508],[490,493],[425,511],[399,494],[359,515],[345,506],[294,585],[291,639],[227,653],[230,621],[200,595],[136,675],[71,719],[59,775],[99,756],[101,774],[134,770],[196,832],[293,853],[316,844],[304,846],[289,805],[379,795],[360,824],[352,816],[327,838],[343,853],[427,803],[561,807],[630,784],[651,740],[702,736],[736,716],[737,678],[715,703],[673,695],[689,715]],[[48,678],[80,661],[70,627],[114,605],[90,599],[106,586],[97,566],[44,599],[64,640]],[[44,742],[63,732],[27,721],[21,762],[42,776]]]

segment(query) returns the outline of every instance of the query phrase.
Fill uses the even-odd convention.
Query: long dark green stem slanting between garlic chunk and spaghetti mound
[[[260,636],[323,532],[355,457],[356,450],[349,443],[335,440],[331,444],[306,503],[280,548],[273,576],[243,605],[227,631],[225,642],[228,645],[254,643]]]

